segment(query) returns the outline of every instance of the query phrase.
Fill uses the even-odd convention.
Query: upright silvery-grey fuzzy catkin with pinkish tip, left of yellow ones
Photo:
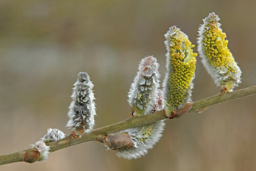
[[[158,68],[157,59],[153,56],[141,60],[128,95],[128,102],[134,109],[134,115],[142,116],[153,110],[159,87]]]

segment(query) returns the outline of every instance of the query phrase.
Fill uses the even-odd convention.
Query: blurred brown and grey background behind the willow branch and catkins
[[[95,84],[95,128],[128,118],[127,92],[140,59],[154,55],[163,76],[168,28],[177,25],[196,45],[198,27],[212,11],[243,72],[235,90],[254,86],[255,9],[255,0],[0,1],[0,154],[30,147],[48,127],[70,134],[65,125],[79,71]],[[220,91],[197,59],[195,101]],[[137,160],[87,142],[51,153],[47,162],[0,170],[256,170],[255,100],[167,121],[160,142]]]

